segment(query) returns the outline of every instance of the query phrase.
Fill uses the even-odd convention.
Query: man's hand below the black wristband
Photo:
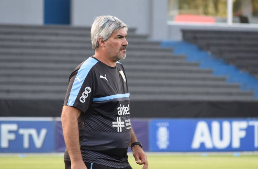
[[[136,163],[139,165],[143,165],[143,169],[148,169],[149,163],[147,161],[147,156],[144,153],[143,149],[139,145],[133,146],[132,149]]]

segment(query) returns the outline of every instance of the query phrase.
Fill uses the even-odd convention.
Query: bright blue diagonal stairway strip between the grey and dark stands
[[[240,83],[242,91],[253,91],[254,98],[258,98],[258,80],[254,76],[241,71],[235,66],[228,65],[221,59],[217,59],[208,52],[200,50],[196,45],[187,42],[163,42],[162,46],[174,47],[175,54],[186,54],[187,60],[190,62],[200,62],[200,68],[213,69],[213,74],[216,76],[227,76],[227,82]],[[255,69],[253,70],[255,71]]]

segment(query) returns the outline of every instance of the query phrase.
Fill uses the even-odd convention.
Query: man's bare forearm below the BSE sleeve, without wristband
[[[70,106],[64,106],[61,116],[64,141],[71,162],[82,160],[79,142],[79,129],[77,118],[80,111]]]

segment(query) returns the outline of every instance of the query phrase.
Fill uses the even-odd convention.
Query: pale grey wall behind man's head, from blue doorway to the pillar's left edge
[[[113,15],[130,27],[137,27],[139,33],[148,34],[150,31],[148,0],[123,2],[99,0],[98,3],[96,1],[74,0],[71,8],[71,22],[74,26],[91,26],[96,16]]]

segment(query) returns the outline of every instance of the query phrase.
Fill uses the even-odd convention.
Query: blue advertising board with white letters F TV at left
[[[53,121],[0,121],[0,152],[54,152]]]

